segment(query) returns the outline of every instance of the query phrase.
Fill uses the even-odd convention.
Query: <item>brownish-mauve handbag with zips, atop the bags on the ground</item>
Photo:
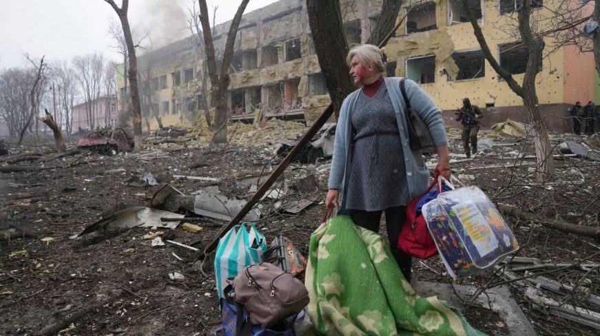
[[[309,304],[304,284],[268,262],[247,266],[235,277],[233,287],[235,300],[245,306],[250,322],[262,328],[300,313]]]

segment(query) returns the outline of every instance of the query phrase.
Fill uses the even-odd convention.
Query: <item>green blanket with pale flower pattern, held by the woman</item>
[[[437,297],[420,297],[382,236],[331,218],[311,235],[305,284],[322,335],[485,335]]]

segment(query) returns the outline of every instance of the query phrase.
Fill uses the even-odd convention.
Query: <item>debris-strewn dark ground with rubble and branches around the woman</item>
[[[206,145],[199,139],[209,134],[198,137],[192,128],[173,141],[147,138],[140,153],[114,156],[12,148],[0,162],[6,172],[0,174],[1,332],[207,335],[216,328],[214,257],[198,255],[273,170],[280,142],[304,130],[280,120],[264,126],[228,125],[226,145]],[[600,227],[600,162],[593,158],[599,137],[552,134],[556,176],[541,183],[527,135],[479,134],[479,153],[467,159],[459,130],[448,130],[453,182],[484,190],[521,249],[495,272],[457,280],[464,285],[458,293],[467,293],[466,285],[495,291],[503,283],[537,333],[593,335],[600,243],[559,231],[559,224]],[[561,150],[562,143],[572,150]],[[435,155],[426,161],[437,163]],[[269,187],[249,213],[267,239],[284,234],[306,255],[324,213],[329,162],[294,162]],[[413,273],[417,283],[451,283],[437,257],[414,260]],[[477,300],[484,307],[467,308],[468,321],[506,335],[499,313],[506,308],[486,295]],[[588,315],[573,317],[579,309]]]

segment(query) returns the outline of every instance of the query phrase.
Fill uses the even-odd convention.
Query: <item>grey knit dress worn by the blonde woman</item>
[[[346,209],[379,211],[408,204],[404,151],[386,85],[373,98],[360,92],[350,120],[352,162]]]

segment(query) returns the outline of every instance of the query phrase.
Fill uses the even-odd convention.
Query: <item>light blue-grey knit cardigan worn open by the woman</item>
[[[408,129],[406,129],[406,117],[404,99],[400,93],[399,77],[384,78],[387,91],[390,95],[392,105],[396,114],[402,147],[404,149],[404,160],[406,164],[406,180],[408,181],[408,192],[412,198],[421,196],[429,185],[429,170],[425,165],[420,151],[413,151],[408,145]],[[411,102],[411,107],[421,117],[423,122],[429,127],[431,138],[436,146],[447,145],[446,131],[442,121],[442,112],[439,111],[435,103],[429,96],[410,79],[404,83],[406,87],[406,96]],[[340,189],[341,210],[345,209],[344,189],[346,189],[346,177],[349,174],[349,162],[351,162],[351,122],[350,115],[353,112],[354,105],[360,94],[358,89],[349,94],[344,99],[340,118],[338,118],[338,127],[335,130],[335,143],[333,145],[333,159],[331,161],[331,173],[329,174],[329,188]],[[406,155],[410,153],[412,155]],[[390,153],[389,155],[394,155]]]

